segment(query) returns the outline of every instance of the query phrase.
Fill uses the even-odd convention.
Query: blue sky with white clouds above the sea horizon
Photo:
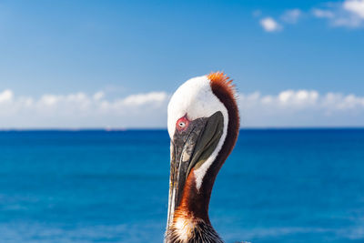
[[[242,127],[364,127],[364,0],[0,0],[0,129],[166,128],[211,71]]]

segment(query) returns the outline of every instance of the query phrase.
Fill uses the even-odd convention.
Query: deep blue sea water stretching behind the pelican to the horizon
[[[165,130],[0,132],[0,242],[162,242]],[[364,242],[364,129],[242,130],[213,189],[227,242]]]

